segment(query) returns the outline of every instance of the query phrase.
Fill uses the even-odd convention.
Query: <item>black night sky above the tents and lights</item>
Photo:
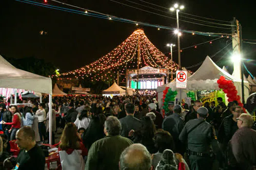
[[[36,0],[35,0],[36,1]],[[43,0],[37,0],[43,2]],[[65,3],[76,5],[101,13],[129,18],[152,24],[176,27],[176,20],[149,14],[138,9],[127,7],[110,0],[60,0]],[[160,10],[169,14],[155,11],[150,8],[138,6],[126,0],[117,0],[121,3],[139,7],[148,11],[156,12],[170,17],[176,17],[170,11],[163,8]],[[139,0],[132,0],[143,5],[154,7]],[[201,17],[209,17],[230,21],[236,17],[243,28],[243,38],[256,39],[256,22],[254,4],[244,0],[146,0],[163,7],[171,7],[175,2],[185,5],[183,12]],[[49,4],[58,5],[48,0]],[[65,6],[67,7],[67,6]],[[182,17],[180,19],[199,22]],[[193,17],[184,15],[187,17]],[[203,19],[198,18],[197,19]],[[203,19],[205,20],[205,19]],[[211,21],[211,20],[208,20]],[[216,21],[213,21],[216,22]],[[200,22],[201,23],[201,22]],[[218,25],[216,25],[218,26]],[[219,26],[222,27],[222,26]],[[0,55],[4,57],[23,58],[35,56],[43,58],[60,68],[60,72],[73,70],[89,64],[101,56],[116,48],[135,29],[135,24],[83,16],[55,9],[44,8],[32,4],[22,3],[15,0],[0,0]],[[177,44],[177,37],[170,30],[157,30],[152,27],[140,26],[150,41],[162,52],[168,52],[167,43]],[[202,32],[231,33],[230,30],[211,28],[180,21],[180,29],[195,30]],[[46,31],[47,35],[39,32]],[[181,36],[181,48],[202,43],[215,37],[192,35],[183,33]],[[204,60],[206,55],[213,55],[221,50],[231,40],[220,39],[212,44],[198,46],[197,49],[189,48],[181,52],[181,65],[188,67]],[[223,50],[213,59],[217,62],[230,48]],[[244,54],[247,59],[254,61],[246,62],[246,66],[256,75],[254,69],[256,45],[244,44]],[[217,63],[222,67],[226,65],[233,70],[229,60],[230,55],[225,55]],[[177,62],[177,52],[174,52],[174,61]],[[195,71],[198,67],[191,68]],[[246,75],[248,75],[246,73]]]

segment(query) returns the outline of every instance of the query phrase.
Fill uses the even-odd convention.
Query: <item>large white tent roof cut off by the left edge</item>
[[[0,87],[52,94],[52,79],[15,68],[0,55]]]

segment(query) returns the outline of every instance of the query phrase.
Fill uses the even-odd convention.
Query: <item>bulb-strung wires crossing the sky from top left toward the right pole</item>
[[[114,21],[120,21],[120,22],[125,22],[125,23],[132,23],[132,24],[136,24],[136,25],[143,25],[143,26],[149,26],[149,27],[155,27],[155,28],[161,28],[161,29],[166,29],[166,30],[176,30],[176,28],[172,28],[172,27],[167,27],[167,26],[161,26],[161,25],[153,25],[150,23],[145,23],[145,22],[138,22],[138,21],[133,21],[130,19],[125,19],[125,18],[120,18],[120,17],[114,17],[111,15],[106,15],[106,14],[102,14],[102,13],[98,13],[95,11],[91,11],[91,10],[87,10],[84,8],[80,8],[74,5],[70,5],[67,3],[63,3],[63,2],[59,2],[57,0],[52,0],[64,5],[69,5],[72,7],[76,7],[79,9],[82,9],[83,11],[78,11],[78,10],[74,10],[74,9],[69,9],[69,8],[63,8],[63,7],[59,7],[59,6],[54,6],[54,5],[49,5],[49,4],[45,4],[45,3],[40,3],[40,2],[36,2],[36,1],[31,1],[31,0],[16,0],[16,1],[20,1],[20,2],[24,2],[24,3],[29,3],[29,4],[33,4],[33,5],[37,5],[37,6],[42,6],[42,7],[46,7],[46,8],[51,8],[51,9],[57,9],[60,11],[65,11],[65,12],[71,12],[71,13],[75,13],[75,14],[80,14],[80,15],[86,15],[86,16],[91,16],[91,17],[98,17],[98,18],[102,18],[102,19],[109,19],[111,17],[111,20]],[[87,11],[84,12],[84,11]],[[91,11],[93,13],[89,13],[88,11]],[[94,14],[97,13],[97,14]],[[198,35],[205,35],[208,36],[209,34],[211,34],[212,36],[219,36],[221,34],[226,35],[226,33],[204,33],[204,32],[198,32],[198,31],[188,31],[188,30],[179,30],[180,32],[184,32],[184,33],[194,33],[194,34],[198,34]]]

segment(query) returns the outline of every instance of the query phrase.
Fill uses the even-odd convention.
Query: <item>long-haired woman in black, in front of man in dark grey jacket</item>
[[[155,133],[156,127],[153,120],[148,116],[144,116],[141,119],[141,129],[138,131],[131,130],[129,136],[132,136],[134,143],[141,143],[144,145],[149,153],[156,153],[157,148],[155,147]]]

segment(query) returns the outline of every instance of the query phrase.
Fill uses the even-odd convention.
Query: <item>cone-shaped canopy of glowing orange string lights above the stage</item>
[[[178,65],[175,62],[171,65],[171,60],[150,42],[143,30],[138,29],[118,45],[117,48],[97,61],[82,68],[62,73],[58,78],[61,80],[74,76],[76,79],[87,77],[91,81],[115,80],[117,71],[120,74],[125,73],[126,62],[127,68],[137,66],[138,38],[140,51],[139,68],[151,66],[154,68],[167,68],[168,70],[173,69],[173,71],[177,70]]]

